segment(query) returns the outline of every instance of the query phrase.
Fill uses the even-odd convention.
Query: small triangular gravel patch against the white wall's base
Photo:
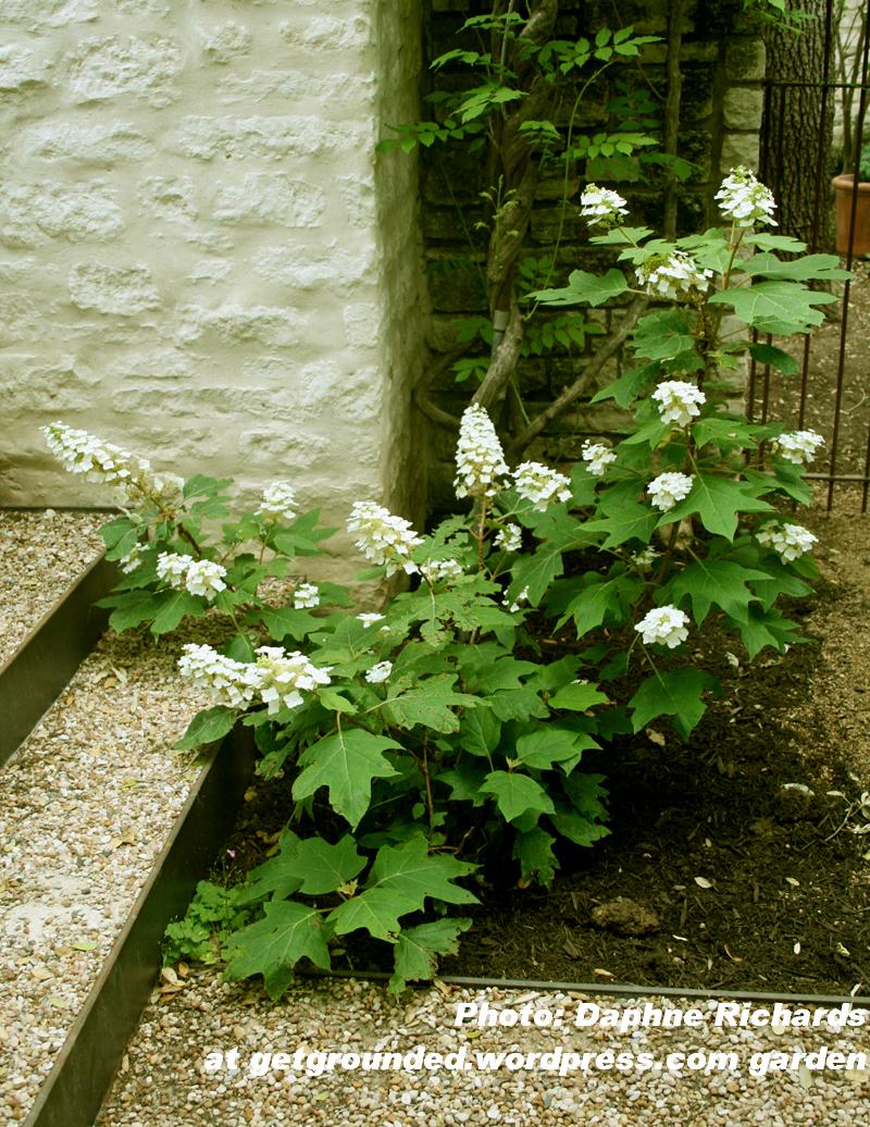
[[[0,509],[0,665],[103,551],[105,513]]]

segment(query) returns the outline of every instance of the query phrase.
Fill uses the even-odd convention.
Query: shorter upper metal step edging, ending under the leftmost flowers
[[[108,621],[108,611],[94,603],[107,595],[117,580],[116,565],[100,557],[0,665],[0,765],[94,649]]]

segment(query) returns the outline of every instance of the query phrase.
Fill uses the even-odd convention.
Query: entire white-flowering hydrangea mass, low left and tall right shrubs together
[[[234,625],[222,650],[184,647],[179,672],[212,707],[178,747],[249,726],[260,775],[285,778],[295,802],[243,884],[199,886],[170,928],[171,957],[220,955],[230,978],[261,975],[277,997],[301,961],[328,969],[362,933],[392,948],[392,990],[430,977],[470,926],[456,913],[476,903],[487,861],[509,859],[521,886],[549,885],[560,841],[589,846],[607,832],[586,752],[654,720],[690,735],[718,689],[692,656],[704,631],[730,632],[749,659],[800,640],[776,603],[809,593],[815,536],[776,506],[809,502],[801,473],[822,438],[747,421],[731,370],[749,352],[793,372],[747,327],[809,331],[834,299],[807,283],[847,275],[756,232],[774,204],[745,169],[717,198],[726,228],[665,242],[624,225],[616,193],[585,190],[593,241],[630,273],[575,272],[538,298],[598,305],[640,290],[657,303],[632,336],[637,366],[596,397],[627,409],[627,435],[587,442],[570,477],[512,469],[486,410],[469,407],[462,513],[419,534],[373,500],[353,506],[347,527],[371,565],[361,578],[408,577],[378,612],[296,574],[334,530],[296,513],[287,482],[228,522],[228,481],[161,477],[83,432],[45,428],[69,469],[124,492],[103,530],[125,573],[105,601],[112,624],[162,635],[215,609]],[[284,584],[283,605],[267,580]],[[570,623],[576,645],[542,658],[533,615],[549,630]]]

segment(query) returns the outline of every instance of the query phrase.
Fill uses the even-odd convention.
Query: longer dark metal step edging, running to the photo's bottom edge
[[[166,926],[184,914],[227,840],[254,758],[250,729],[240,726],[212,748],[25,1127],[94,1124],[154,988]]]

